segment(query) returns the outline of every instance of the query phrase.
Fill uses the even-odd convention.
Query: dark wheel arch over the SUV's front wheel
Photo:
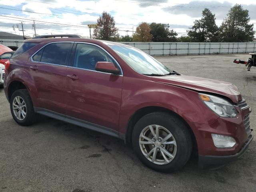
[[[189,124],[184,120],[184,118],[182,118],[176,112],[174,112],[174,111],[172,111],[172,110],[170,110],[168,108],[164,108],[164,107],[160,107],[160,106],[146,106],[146,107],[138,109],[136,112],[134,112],[134,114],[132,114],[132,116],[130,117],[130,119],[128,121],[128,124],[126,126],[126,134],[125,134],[125,142],[126,142],[126,144],[130,145],[132,143],[132,131],[133,131],[133,128],[134,128],[134,125],[136,124],[136,122],[138,122],[138,120],[140,118],[142,118],[143,116],[145,116],[147,114],[150,114],[152,112],[165,112],[165,113],[168,113],[170,115],[176,116],[177,118],[182,120],[182,122],[188,128],[188,130],[190,132],[190,135],[192,137],[193,151],[197,150],[197,142],[196,142],[196,137],[194,135],[194,132],[190,128]]]

